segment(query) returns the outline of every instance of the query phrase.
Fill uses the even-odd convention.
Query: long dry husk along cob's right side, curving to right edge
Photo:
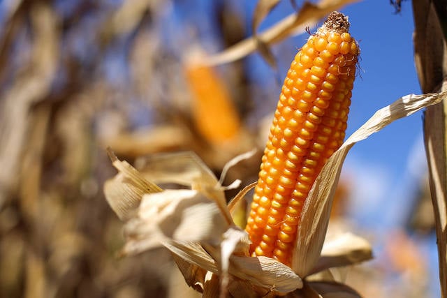
[[[302,211],[292,261],[292,268],[299,276],[307,276],[312,272],[320,258],[328,228],[332,199],[344,158],[349,149],[356,142],[365,140],[369,135],[380,131],[391,122],[409,116],[423,107],[439,103],[446,95],[447,92],[423,95],[410,94],[399,98],[391,105],[378,110],[342,144],[340,149],[332,154],[312,186]]]

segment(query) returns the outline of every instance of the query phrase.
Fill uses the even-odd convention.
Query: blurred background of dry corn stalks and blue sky
[[[116,173],[105,149],[137,165],[140,156],[192,150],[219,175],[257,148],[226,183],[255,181],[281,81],[309,33],[271,45],[270,58],[195,63],[251,36],[256,2],[0,1],[1,297],[183,293],[166,251],[117,258],[124,237],[103,196]],[[411,2],[396,2],[342,8],[361,49],[347,135],[379,108],[420,94]],[[258,31],[302,6],[280,1]],[[347,271],[365,297],[439,297],[422,117],[393,123],[346,158],[333,222],[374,245],[373,261]]]

